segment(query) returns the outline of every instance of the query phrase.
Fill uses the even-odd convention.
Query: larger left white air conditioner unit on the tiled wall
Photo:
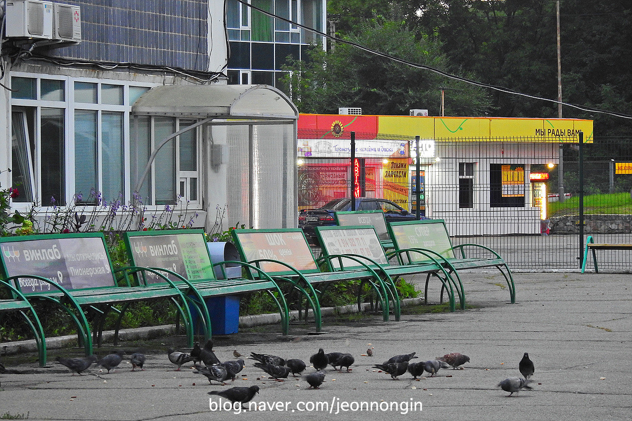
[[[52,38],[52,2],[42,0],[9,0],[6,2],[8,38]]]

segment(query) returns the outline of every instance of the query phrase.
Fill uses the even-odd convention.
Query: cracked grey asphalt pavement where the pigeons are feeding
[[[234,349],[244,355],[254,351],[305,362],[319,348],[355,357],[351,372],[328,367],[325,382],[317,390],[307,389],[307,382],[291,375],[284,382],[269,379],[253,367],[253,360],[246,360],[240,379],[226,386],[209,384],[188,367],[174,371],[166,352],[159,350],[147,355],[143,371],[130,371],[131,365],[124,360],[110,374],[92,366],[91,374],[82,376],[73,376],[56,363],[39,368],[12,358],[12,365],[5,362],[8,372],[0,374],[0,418],[506,421],[632,417],[629,274],[516,273],[515,304],[509,303],[504,279],[497,272],[468,272],[462,278],[468,303],[476,308],[436,314],[406,309],[399,322],[392,317],[389,322],[382,322],[381,316],[349,317],[346,322],[325,322],[327,333],[320,335],[296,334],[308,329],[293,325],[294,336],[284,338],[277,336],[278,326],[270,325],[260,327],[258,333],[217,338],[215,351],[220,360],[234,360]],[[431,288],[431,300],[436,301],[438,295]],[[368,348],[373,348],[372,357],[363,355]],[[449,352],[464,353],[470,362],[463,370],[442,369],[436,377],[418,381],[408,373],[392,380],[372,368],[393,355],[413,351],[419,357],[413,362]],[[518,362],[525,352],[535,364],[533,389],[507,397],[496,385],[520,375]],[[309,365],[306,372],[313,371]],[[221,408],[218,405],[225,405],[225,400],[207,394],[252,385],[259,386],[260,393],[250,410]]]

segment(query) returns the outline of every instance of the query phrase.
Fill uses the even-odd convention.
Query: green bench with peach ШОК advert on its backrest
[[[314,258],[302,229],[233,229],[232,235],[241,260],[257,265],[276,281],[289,283],[301,293],[313,310],[317,331],[322,329],[319,296],[328,284],[337,282],[358,279],[362,283],[368,282],[382,304],[384,321],[389,320],[389,298],[396,298],[390,296],[391,291],[375,270],[363,267],[353,271],[321,271],[320,262]],[[257,274],[252,276],[255,278]],[[359,300],[360,297],[358,304]],[[399,312],[395,316],[399,320]]]

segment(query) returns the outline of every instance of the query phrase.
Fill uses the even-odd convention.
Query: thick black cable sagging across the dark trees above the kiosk
[[[264,13],[264,15],[268,15],[271,16],[272,18],[275,19],[280,19],[286,22],[289,22],[293,25],[296,25],[300,28],[303,28],[305,30],[309,30],[310,32],[313,32],[315,34],[321,35],[322,37],[325,37],[327,39],[331,39],[331,40],[335,40],[336,42],[341,42],[342,44],[348,44],[349,46],[353,46],[356,47],[358,49],[361,49],[362,51],[366,51],[370,54],[375,54],[376,56],[380,56],[383,58],[387,58],[390,59],[392,61],[396,61],[397,63],[401,63],[401,64],[406,64],[407,66],[411,66],[414,68],[418,68],[418,69],[422,69],[422,70],[430,70],[433,71],[434,73],[437,73],[439,75],[445,76],[446,78],[450,78],[453,80],[458,80],[459,82],[465,82],[465,83],[469,83],[470,85],[475,85],[478,87],[482,87],[482,88],[489,88],[492,90],[496,90],[498,92],[503,92],[505,94],[510,94],[510,95],[519,95],[521,97],[526,97],[526,98],[530,98],[530,99],[537,99],[538,101],[547,101],[547,102],[552,102],[554,104],[562,104],[563,106],[568,106],[568,107],[572,107],[575,109],[579,109],[580,111],[586,111],[588,113],[601,113],[601,114],[607,114],[610,116],[614,116],[614,117],[620,117],[620,118],[628,118],[628,119],[632,119],[632,115],[630,114],[623,114],[623,113],[617,113],[616,111],[607,111],[607,110],[602,110],[602,109],[597,109],[597,108],[592,108],[592,107],[586,107],[586,106],[581,106],[579,104],[571,104],[569,102],[563,102],[563,101],[557,101],[556,99],[549,99],[549,98],[544,98],[544,97],[538,97],[536,95],[530,95],[530,94],[524,94],[523,92],[518,92],[506,87],[501,87],[501,86],[497,86],[497,85],[490,85],[489,83],[483,83],[483,82],[478,82],[476,80],[471,80],[468,78],[463,78],[461,76],[458,75],[453,75],[452,73],[448,73],[447,71],[443,71],[443,70],[439,70],[437,68],[431,67],[431,66],[427,66],[425,64],[419,64],[419,63],[413,63],[412,61],[408,61],[396,56],[392,56],[391,54],[386,54],[384,52],[380,52],[380,51],[375,51],[373,49],[370,49],[368,47],[362,46],[361,44],[358,44],[356,42],[353,41],[349,41],[349,40],[344,40],[341,38],[337,38],[337,37],[333,37],[332,35],[329,34],[325,34],[324,32],[320,32],[319,30],[316,30],[314,28],[310,28],[307,27],[305,25],[301,25],[300,23],[296,23],[294,21],[291,21],[289,19],[283,18],[282,16],[277,16],[274,15],[274,13],[271,13],[269,11],[265,11],[264,9],[258,8],[257,6],[253,6],[252,4],[248,3],[245,0],[237,0],[239,3],[241,4],[246,4],[246,6],[248,6],[251,9],[257,10],[260,13]]]

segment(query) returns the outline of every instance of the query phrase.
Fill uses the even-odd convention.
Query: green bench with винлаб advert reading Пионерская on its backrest
[[[208,314],[204,303],[191,300],[171,281],[144,283],[148,272],[156,272],[152,269],[125,267],[114,272],[102,233],[3,237],[0,245],[6,251],[2,259],[4,280],[29,301],[55,303],[70,315],[86,355],[93,353],[94,343],[100,346],[111,311],[118,312],[116,343],[121,319],[132,302],[171,299],[185,323],[189,346],[193,346],[193,329],[188,304]],[[138,279],[140,282],[135,281]],[[118,304],[123,307],[115,307]],[[94,316],[92,329],[86,314]]]

